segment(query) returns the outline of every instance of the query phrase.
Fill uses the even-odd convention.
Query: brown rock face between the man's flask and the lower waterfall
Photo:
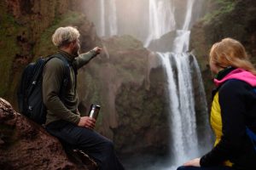
[[[130,36],[102,44],[103,53],[79,71],[80,111],[102,105],[97,130],[121,154],[168,152],[166,81],[158,57]]]

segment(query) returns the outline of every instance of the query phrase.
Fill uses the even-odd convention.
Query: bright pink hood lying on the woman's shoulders
[[[230,73],[221,80],[214,78],[214,84],[218,87],[230,79],[241,80],[243,82],[247,82],[253,87],[256,87],[256,76],[254,76],[250,71],[245,71],[240,68],[235,69],[234,71],[230,71]]]

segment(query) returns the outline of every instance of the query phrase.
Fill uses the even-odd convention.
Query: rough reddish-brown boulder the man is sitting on
[[[58,139],[20,115],[2,98],[0,153],[0,169],[96,169],[90,158],[79,159],[80,152],[70,152],[70,160]]]

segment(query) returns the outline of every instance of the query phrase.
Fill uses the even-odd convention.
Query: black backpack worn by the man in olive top
[[[67,59],[61,54],[55,54],[46,58],[40,58],[26,66],[22,73],[18,88],[18,105],[22,115],[32,119],[33,122],[43,125],[46,121],[46,107],[43,102],[42,83],[44,65],[53,58],[61,59],[67,67],[62,82],[61,91],[67,87],[70,78],[70,70]],[[63,93],[61,93],[63,94]],[[61,96],[60,96],[61,97]]]

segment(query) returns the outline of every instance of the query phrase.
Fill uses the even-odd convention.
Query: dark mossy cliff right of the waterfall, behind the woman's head
[[[212,76],[208,65],[208,54],[214,42],[218,42],[224,37],[237,39],[246,47],[247,54],[256,64],[256,1],[210,0],[207,8],[212,12],[192,28],[190,48],[195,50],[195,55],[201,65],[208,94],[207,99],[210,103]]]

